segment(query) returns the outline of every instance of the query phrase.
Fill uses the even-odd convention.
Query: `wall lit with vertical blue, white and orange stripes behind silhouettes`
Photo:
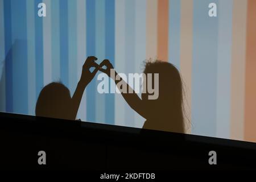
[[[73,94],[87,56],[126,74],[161,59],[181,73],[187,133],[256,142],[255,12],[254,0],[0,0],[0,110],[34,115],[52,81]],[[99,94],[97,83],[77,118],[142,127],[120,94]]]

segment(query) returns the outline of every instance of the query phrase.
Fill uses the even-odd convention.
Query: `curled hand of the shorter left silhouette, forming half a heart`
[[[85,63],[82,66],[82,74],[80,78],[80,82],[82,84],[88,85],[89,82],[92,81],[93,77],[96,75],[98,69],[100,68],[100,66],[97,63],[95,63],[96,60],[97,57],[94,56],[89,56],[85,60]],[[93,72],[90,72],[90,68],[92,67],[94,67],[95,69]]]

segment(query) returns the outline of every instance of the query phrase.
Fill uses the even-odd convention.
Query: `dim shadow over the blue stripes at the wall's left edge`
[[[27,40],[15,40],[0,69],[0,111],[27,114]]]

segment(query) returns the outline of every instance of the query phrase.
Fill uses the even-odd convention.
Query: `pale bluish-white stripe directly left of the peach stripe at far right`
[[[216,135],[230,136],[230,75],[232,57],[232,0],[219,2]]]

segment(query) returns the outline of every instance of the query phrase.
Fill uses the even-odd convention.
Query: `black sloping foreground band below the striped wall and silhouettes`
[[[0,113],[1,169],[256,169],[256,144]],[[46,152],[46,165],[38,152]],[[217,164],[210,165],[209,151]]]

